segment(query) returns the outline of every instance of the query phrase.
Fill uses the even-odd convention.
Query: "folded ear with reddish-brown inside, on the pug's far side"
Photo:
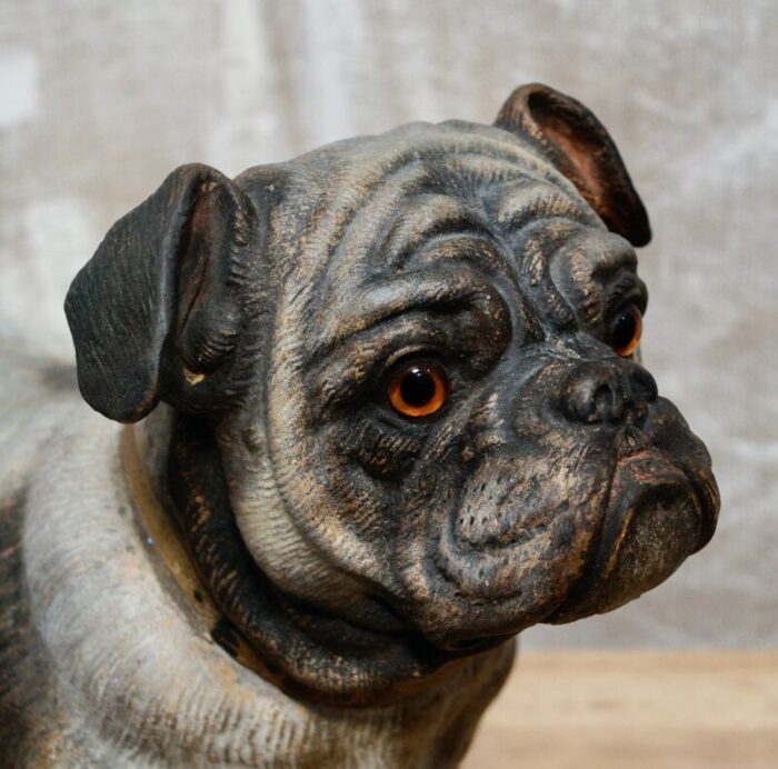
[[[614,140],[579,101],[540,83],[521,86],[508,97],[495,126],[538,147],[608,229],[632,246],[651,239],[648,214]]]

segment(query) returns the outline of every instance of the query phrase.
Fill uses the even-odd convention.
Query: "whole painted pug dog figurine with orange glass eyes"
[[[712,535],[636,360],[649,238],[606,130],[537,84],[493,126],[173,171],[66,302],[127,426],[51,371],[9,388],[6,765],[456,765],[518,632]]]

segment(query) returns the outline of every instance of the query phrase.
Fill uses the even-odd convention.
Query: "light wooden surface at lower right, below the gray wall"
[[[778,651],[520,652],[463,769],[776,769]]]

